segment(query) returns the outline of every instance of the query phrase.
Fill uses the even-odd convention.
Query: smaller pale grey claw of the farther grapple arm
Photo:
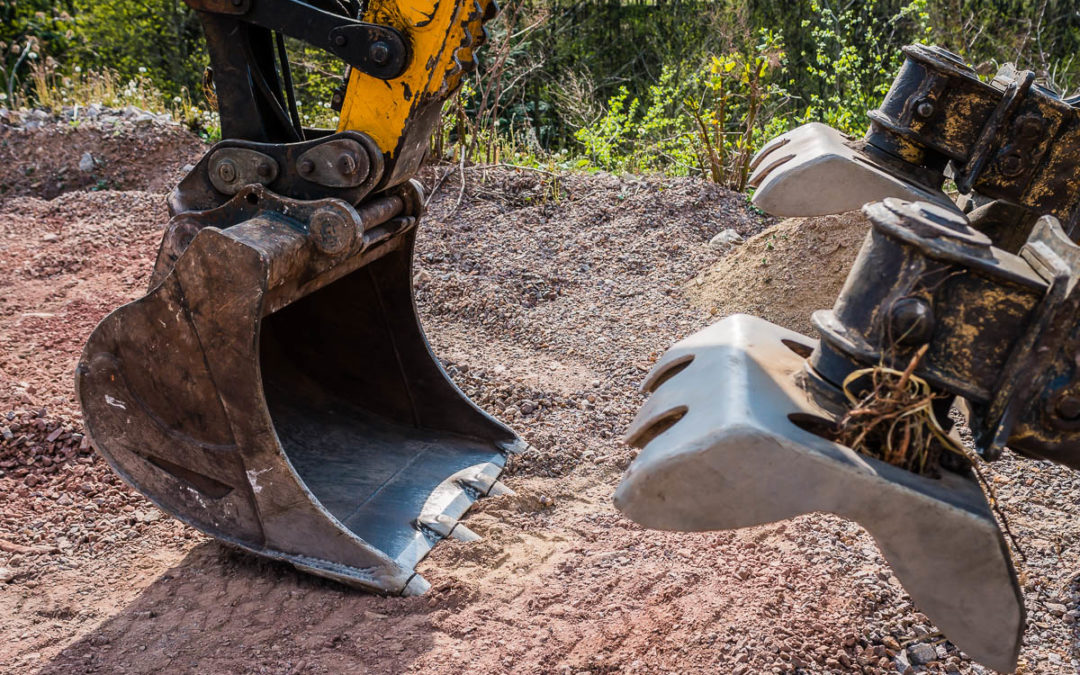
[[[835,129],[812,122],[769,141],[751,162],[754,204],[773,216],[824,216],[887,197],[956,211],[941,190],[889,173]]]

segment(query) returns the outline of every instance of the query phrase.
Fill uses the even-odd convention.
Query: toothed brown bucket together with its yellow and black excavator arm
[[[383,593],[525,447],[455,387],[413,301],[411,178],[491,1],[186,0],[224,140],[168,200],[147,295],[86,343],[89,435],[164,511]],[[321,9],[323,5],[329,9]],[[307,129],[284,37],[345,60],[339,127]]]

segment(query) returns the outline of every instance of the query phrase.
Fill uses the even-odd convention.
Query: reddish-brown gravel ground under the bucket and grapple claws
[[[0,197],[4,672],[986,672],[856,525],[657,532],[611,505],[649,365],[730,311],[808,330],[858,249],[858,217],[772,225],[689,179],[474,170],[467,187],[458,206],[448,179],[421,224],[418,303],[462,389],[535,449],[504,476],[516,496],[467,516],[483,541],[436,546],[419,567],[432,590],[409,598],[218,544],[82,438],[72,370],[95,323],[144,291],[164,188]],[[750,239],[711,248],[725,228]],[[1011,457],[996,475],[1028,555],[1022,670],[1077,672],[1080,478]],[[908,665],[922,645],[935,658]]]

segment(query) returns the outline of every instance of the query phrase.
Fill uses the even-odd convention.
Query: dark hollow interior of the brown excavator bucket
[[[407,255],[394,252],[265,318],[259,345],[267,404],[296,472],[392,558],[413,545],[414,523],[441,483],[484,462],[503,465],[496,443],[514,437],[431,355]]]

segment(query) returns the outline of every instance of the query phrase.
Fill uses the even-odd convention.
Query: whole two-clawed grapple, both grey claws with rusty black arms
[[[949,409],[982,460],[1080,469],[1080,109],[1029,72],[986,84],[944,50],[905,54],[865,138],[812,124],[755,159],[771,213],[873,202],[819,339],[734,315],[675,345],[616,503],[676,530],[858,521],[950,640],[1012,671],[1023,595]],[[919,434],[924,454],[897,461]]]

